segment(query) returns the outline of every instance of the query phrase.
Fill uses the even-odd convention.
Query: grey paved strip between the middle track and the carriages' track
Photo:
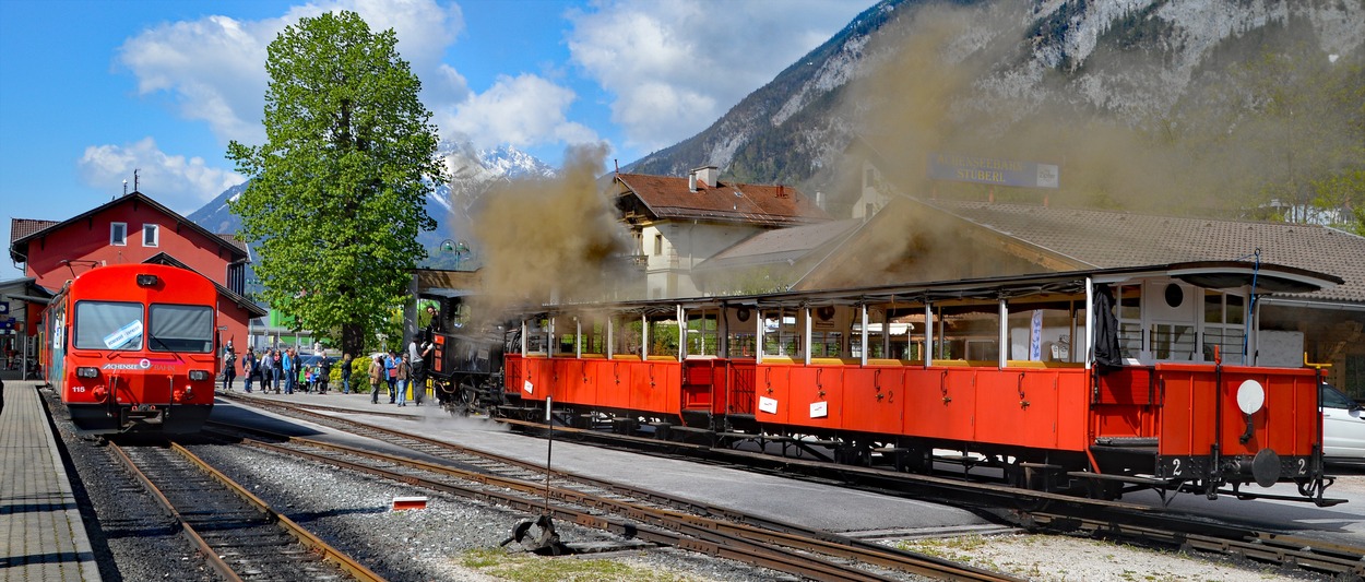
[[[348,408],[355,414],[336,414],[359,422],[412,432],[527,462],[543,463],[547,449],[553,447],[551,465],[557,470],[632,484],[698,503],[747,511],[764,518],[853,537],[942,536],[950,531],[986,534],[1007,530],[1007,527],[990,523],[969,511],[935,503],[894,499],[838,485],[789,480],[682,459],[612,451],[569,441],[556,440],[551,445],[543,439],[515,434],[505,425],[491,419],[455,417],[440,406],[416,407],[411,402],[404,407],[389,404],[388,393],[381,395],[378,404],[370,403],[369,393],[343,395],[337,391],[325,395],[299,392],[293,395],[262,395],[259,392],[246,395],[238,389],[233,393]],[[430,403],[431,399],[427,402]],[[385,415],[363,414],[369,411],[385,413]],[[222,399],[214,406],[213,418],[231,418],[231,422],[262,422],[268,425],[269,430],[319,440],[336,439],[339,443],[359,439],[337,434],[306,421],[235,406]],[[411,451],[397,448],[394,454],[412,456]]]

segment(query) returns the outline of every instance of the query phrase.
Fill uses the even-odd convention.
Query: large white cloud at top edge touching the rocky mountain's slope
[[[575,64],[614,96],[627,145],[706,130],[868,5],[845,0],[607,0],[571,11]]]

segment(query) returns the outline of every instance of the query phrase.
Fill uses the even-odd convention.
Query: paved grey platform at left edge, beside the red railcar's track
[[[7,380],[0,410],[0,582],[100,581],[38,383]]]

